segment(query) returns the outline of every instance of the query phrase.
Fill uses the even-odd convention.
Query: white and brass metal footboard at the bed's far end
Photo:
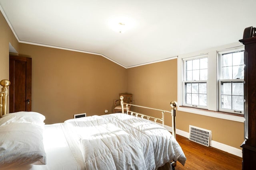
[[[123,101],[124,97],[120,96],[120,100],[121,100],[121,106],[122,106],[122,113],[124,113],[124,105],[126,106],[126,114],[135,114],[136,117],[138,117],[138,115],[140,115],[141,118],[146,117],[148,120],[154,119],[155,123],[157,120],[162,121],[162,126],[164,127],[164,113],[171,113],[172,114],[172,136],[176,139],[176,106],[177,106],[177,102],[172,101],[170,102],[170,106],[172,107],[171,111],[168,110],[162,110],[162,109],[155,109],[155,108],[151,108],[151,107],[145,107],[145,106],[139,106],[139,105],[135,105],[135,104],[129,104],[129,103],[124,103]],[[130,111],[128,109],[128,106],[136,106],[136,107],[142,107],[142,108],[146,108],[146,109],[152,109],[152,110],[157,110],[157,111],[161,111],[162,112],[162,118],[156,118],[156,117],[152,117],[152,116],[148,116],[148,115],[144,115],[142,113],[137,113],[135,111]]]

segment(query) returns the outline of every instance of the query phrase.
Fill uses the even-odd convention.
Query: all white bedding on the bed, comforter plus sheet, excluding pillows
[[[122,113],[45,125],[44,149],[46,165],[13,170],[154,170],[171,160],[186,161],[170,132]]]

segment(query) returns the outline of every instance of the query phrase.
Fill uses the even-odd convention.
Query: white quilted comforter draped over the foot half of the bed
[[[86,170],[154,170],[186,157],[165,128],[146,119],[115,113],[65,121],[77,139]]]

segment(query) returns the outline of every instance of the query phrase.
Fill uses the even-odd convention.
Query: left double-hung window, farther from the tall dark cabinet
[[[184,104],[192,107],[207,106],[208,58],[184,61]]]

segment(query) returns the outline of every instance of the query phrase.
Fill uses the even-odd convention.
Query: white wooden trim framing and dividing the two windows
[[[236,115],[228,115],[228,114],[223,114],[220,112],[213,112],[217,111],[218,108],[218,52],[220,51],[234,51],[236,49],[241,49],[244,48],[243,45],[241,45],[239,42],[236,43],[231,43],[228,45],[223,45],[220,47],[214,47],[211,49],[206,49],[202,51],[197,51],[194,53],[188,53],[188,54],[183,54],[178,56],[178,111],[185,111],[189,113],[195,113],[199,115],[205,115],[205,116],[210,116],[210,117],[216,117],[220,119],[227,119],[227,120],[232,120],[232,121],[238,121],[238,122],[244,122],[244,117],[241,116],[236,116]],[[208,80],[208,84],[211,86],[207,86],[207,94],[210,94],[210,92],[216,93],[214,95],[215,97],[208,98],[207,100],[207,105],[208,109],[212,110],[203,110],[203,109],[195,109],[192,107],[180,107],[183,106],[182,100],[183,100],[183,86],[182,86],[182,81],[183,81],[183,76],[182,75],[182,70],[183,70],[183,60],[191,59],[192,56],[201,56],[201,55],[207,55],[208,54],[208,76],[209,74],[216,77],[212,80]],[[214,67],[214,68],[213,68]],[[217,89],[217,90],[216,90]],[[209,105],[213,104],[213,105]]]

